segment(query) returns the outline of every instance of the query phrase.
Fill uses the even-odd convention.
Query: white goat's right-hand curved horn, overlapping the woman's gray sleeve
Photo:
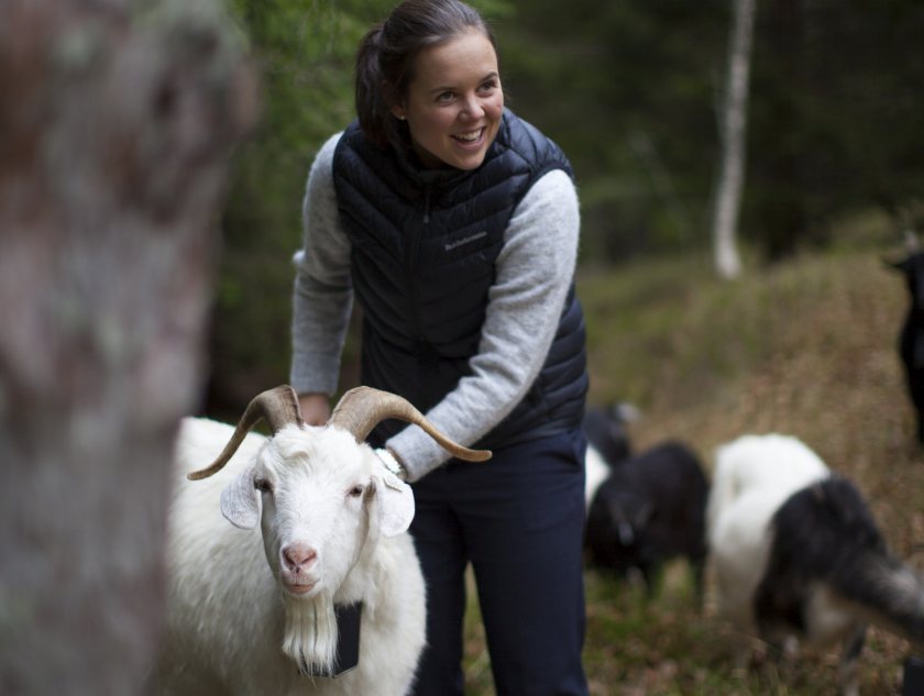
[[[356,442],[365,442],[372,429],[388,418],[419,426],[447,452],[460,460],[484,462],[491,459],[488,450],[470,450],[447,438],[404,397],[372,387],[356,387],[344,394],[333,409],[328,426],[343,428],[353,434]]]

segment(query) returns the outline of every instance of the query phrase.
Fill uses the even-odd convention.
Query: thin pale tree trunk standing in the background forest
[[[728,43],[728,74],[722,114],[722,169],[713,214],[716,270],[736,278],[741,262],[736,243],[738,213],[745,184],[748,81],[757,0],[734,0]]]

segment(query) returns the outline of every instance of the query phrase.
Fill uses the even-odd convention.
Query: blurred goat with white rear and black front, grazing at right
[[[842,641],[843,694],[858,694],[868,623],[924,639],[924,581],[886,546],[862,496],[805,444],[745,435],[717,451],[707,539],[719,610],[794,654]]]

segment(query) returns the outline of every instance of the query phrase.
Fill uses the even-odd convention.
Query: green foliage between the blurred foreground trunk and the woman
[[[389,0],[232,0],[262,81],[263,112],[237,157],[211,331],[207,408],[235,417],[288,378],[290,259],[315,153],[353,117],[353,59]]]

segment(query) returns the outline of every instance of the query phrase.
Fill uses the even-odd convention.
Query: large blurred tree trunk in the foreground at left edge
[[[215,225],[255,117],[206,0],[4,0],[0,693],[138,694]]]

